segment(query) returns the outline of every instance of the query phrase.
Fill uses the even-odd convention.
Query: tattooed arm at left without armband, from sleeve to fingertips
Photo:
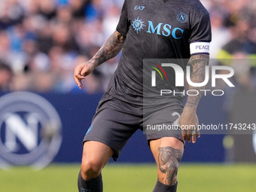
[[[105,41],[92,59],[75,68],[74,78],[80,89],[84,87],[81,80],[84,79],[85,76],[90,75],[90,73],[93,72],[93,69],[101,65],[103,62],[106,62],[108,59],[113,58],[117,55],[117,53],[120,52],[120,50],[123,48],[125,38],[126,37],[120,34],[120,32],[115,31]]]

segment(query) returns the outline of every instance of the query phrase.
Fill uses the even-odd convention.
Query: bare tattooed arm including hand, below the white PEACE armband
[[[209,64],[209,55],[206,54],[198,54],[190,57],[190,66],[192,67],[191,72],[191,81],[194,83],[202,83],[205,79],[205,67]],[[189,86],[189,90],[197,90],[194,91],[194,93],[190,92],[190,95],[195,96],[187,96],[187,102],[184,105],[184,110],[181,114],[181,117],[179,118],[179,124],[187,125],[187,126],[194,126],[196,128],[198,124],[198,118],[197,118],[197,105],[200,101],[200,98],[203,94],[202,91],[204,90],[205,86],[203,87],[192,87]],[[199,93],[199,94],[197,94]],[[181,127],[182,128],[182,127]],[[197,133],[197,134],[196,134]],[[197,137],[200,137],[200,132],[197,130],[197,132],[193,132],[192,130],[182,130],[182,136],[184,140],[187,140],[187,142],[191,141],[192,136],[192,142],[196,142],[196,135]]]

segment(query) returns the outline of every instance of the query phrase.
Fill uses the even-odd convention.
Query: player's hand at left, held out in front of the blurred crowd
[[[93,64],[90,61],[75,67],[74,79],[80,89],[84,87],[82,80],[85,76],[90,75],[91,72],[93,72]]]

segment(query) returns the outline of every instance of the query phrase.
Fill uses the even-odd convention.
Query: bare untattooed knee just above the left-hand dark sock
[[[84,179],[96,178],[102,171],[103,166],[97,160],[82,160],[81,175]]]

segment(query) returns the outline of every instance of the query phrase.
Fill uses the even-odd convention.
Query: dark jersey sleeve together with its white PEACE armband
[[[201,17],[200,20],[191,26],[190,33],[190,54],[209,53],[210,42],[212,41],[212,29],[209,14]]]

